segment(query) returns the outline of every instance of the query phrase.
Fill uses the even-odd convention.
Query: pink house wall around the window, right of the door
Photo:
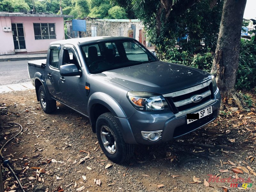
[[[65,39],[64,20],[62,17],[11,17],[11,22],[23,23],[27,52],[47,51],[52,41]],[[33,23],[55,23],[56,39],[35,40]],[[13,44],[13,40],[11,43]]]

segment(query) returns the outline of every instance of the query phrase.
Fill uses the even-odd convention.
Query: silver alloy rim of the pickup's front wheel
[[[116,140],[113,132],[108,128],[108,126],[103,125],[100,128],[100,138],[103,143],[104,148],[111,154],[116,153]]]

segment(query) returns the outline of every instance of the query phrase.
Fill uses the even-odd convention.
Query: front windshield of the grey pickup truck
[[[80,48],[90,73],[156,61],[148,50],[133,40],[99,42]]]

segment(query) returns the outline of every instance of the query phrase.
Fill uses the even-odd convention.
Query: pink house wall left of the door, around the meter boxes
[[[10,17],[0,17],[0,27],[0,55],[15,54],[12,31],[3,31],[3,27],[11,27]]]

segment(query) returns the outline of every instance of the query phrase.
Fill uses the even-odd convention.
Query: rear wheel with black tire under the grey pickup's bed
[[[56,101],[52,99],[49,100],[49,98],[47,98],[43,85],[41,85],[38,89],[38,97],[41,108],[45,113],[49,114],[56,110]]]

